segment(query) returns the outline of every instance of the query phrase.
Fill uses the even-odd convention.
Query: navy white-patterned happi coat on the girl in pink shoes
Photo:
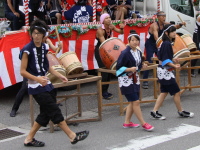
[[[136,72],[137,81],[133,81],[133,77],[130,76],[133,74],[132,72],[125,72],[125,70],[130,67],[138,67],[138,70],[142,68],[142,52],[138,49],[134,52],[130,46],[127,46],[126,49],[121,52],[116,66],[116,76],[118,77],[119,87],[123,95],[139,93],[140,91],[138,72]]]

